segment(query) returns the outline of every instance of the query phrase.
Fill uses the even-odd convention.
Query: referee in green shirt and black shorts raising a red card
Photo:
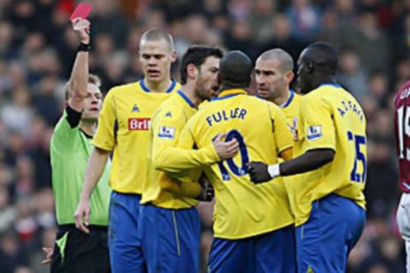
[[[72,22],[80,44],[67,84],[67,106],[54,128],[50,144],[52,184],[58,231],[51,261],[52,272],[110,272],[107,246],[110,163],[101,166],[101,176],[90,197],[93,214],[87,234],[75,228],[74,212],[83,185],[86,164],[92,153],[91,139],[103,103],[100,80],[88,73],[90,22]]]

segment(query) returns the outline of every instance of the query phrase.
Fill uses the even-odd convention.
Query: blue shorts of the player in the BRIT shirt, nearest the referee
[[[113,273],[146,272],[137,236],[140,199],[138,194],[111,192],[108,246]]]

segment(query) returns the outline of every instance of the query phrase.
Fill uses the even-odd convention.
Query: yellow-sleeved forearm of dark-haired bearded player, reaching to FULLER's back
[[[218,161],[218,154],[212,145],[199,150],[167,147],[154,156],[155,169],[170,173],[210,165]]]

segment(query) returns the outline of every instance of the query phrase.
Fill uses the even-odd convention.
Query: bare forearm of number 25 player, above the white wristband
[[[335,151],[332,149],[312,150],[292,160],[279,164],[281,176],[301,174],[318,169],[333,161]]]

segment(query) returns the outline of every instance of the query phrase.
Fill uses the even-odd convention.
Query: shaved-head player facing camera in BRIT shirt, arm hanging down
[[[144,270],[137,227],[147,173],[150,120],[161,102],[179,89],[179,83],[170,77],[175,58],[170,34],[162,29],[146,31],[139,44],[144,79],[112,88],[98,118],[92,142],[95,149],[87,165],[77,208],[77,225],[87,230],[87,219],[94,214],[93,211],[90,214],[89,198],[113,151],[108,237],[113,272]]]

